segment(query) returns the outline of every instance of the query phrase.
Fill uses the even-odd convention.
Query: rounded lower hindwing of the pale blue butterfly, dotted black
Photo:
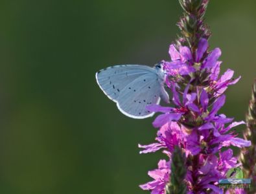
[[[131,118],[153,116],[146,109],[150,104],[159,104],[163,85],[156,72],[148,72],[129,83],[117,98],[118,109]]]

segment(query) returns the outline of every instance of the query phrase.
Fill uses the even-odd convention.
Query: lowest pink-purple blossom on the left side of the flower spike
[[[165,194],[165,186],[170,181],[170,162],[160,160],[158,169],[148,171],[148,175],[154,180],[139,187],[143,190],[150,190],[151,194]]]

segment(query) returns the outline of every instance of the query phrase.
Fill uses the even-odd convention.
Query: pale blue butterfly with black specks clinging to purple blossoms
[[[163,65],[115,65],[96,73],[100,89],[113,102],[121,113],[131,118],[148,118],[154,113],[148,105],[159,104],[160,99],[169,103],[165,91],[166,73]]]

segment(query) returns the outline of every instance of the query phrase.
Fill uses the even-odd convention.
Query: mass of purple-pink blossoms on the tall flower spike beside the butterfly
[[[170,61],[162,61],[167,72],[167,86],[172,92],[173,107],[150,105],[148,111],[159,114],[153,122],[159,128],[156,142],[139,145],[141,153],[163,150],[169,160],[175,146],[179,146],[187,158],[186,168],[188,193],[223,193],[216,186],[218,179],[226,178],[227,170],[240,163],[233,151],[222,147],[248,147],[251,142],[237,137],[233,127],[244,124],[233,122],[224,114],[218,114],[224,105],[224,92],[229,85],[239,81],[233,79],[233,70],[228,69],[220,76],[218,61],[220,48],[207,52],[207,39],[200,39],[196,50],[190,47],[170,45]],[[218,155],[218,156],[217,156]],[[169,161],[170,162],[170,161]],[[170,164],[160,160],[159,169],[150,171],[153,182],[144,184],[142,189],[152,193],[166,193],[170,182]]]

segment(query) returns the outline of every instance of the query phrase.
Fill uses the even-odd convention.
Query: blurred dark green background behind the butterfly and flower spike
[[[121,63],[169,59],[178,0],[0,1],[0,193],[146,193],[161,153],[154,118],[122,115],[95,81]],[[244,119],[256,78],[256,1],[211,1],[205,21],[222,70],[241,75],[222,109]],[[240,127],[242,130],[243,127]]]

